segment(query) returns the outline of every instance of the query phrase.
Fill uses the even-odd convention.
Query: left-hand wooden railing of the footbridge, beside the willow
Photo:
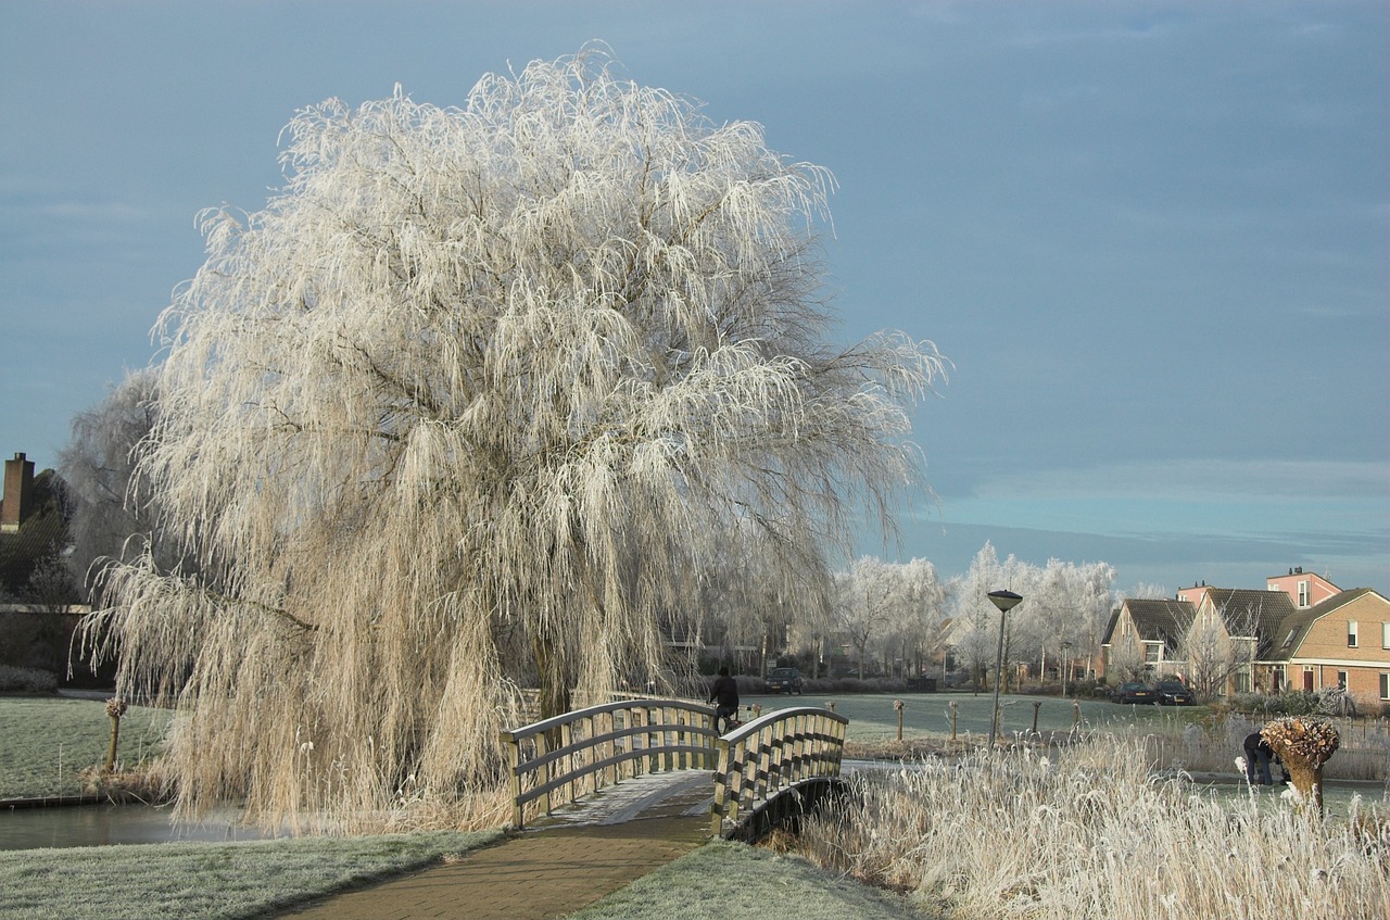
[[[603,703],[505,731],[512,823],[644,773],[712,770],[717,737],[714,710],[680,699]]]

